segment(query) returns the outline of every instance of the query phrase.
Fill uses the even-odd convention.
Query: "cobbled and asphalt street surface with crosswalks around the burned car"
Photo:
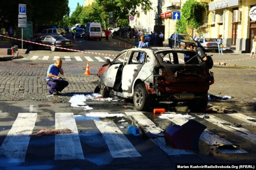
[[[124,47],[105,40],[81,39],[74,49],[117,55]],[[63,59],[67,79],[72,83],[67,90],[69,95],[47,98],[46,85],[42,85],[43,88],[36,85],[45,79],[44,70],[54,63],[54,56]],[[69,100],[74,94],[93,92],[96,82],[92,81],[97,79],[95,73],[105,57],[36,50],[24,55],[25,59],[0,63],[0,169],[170,170],[176,163],[255,163],[255,69],[214,66],[211,71],[214,72],[215,83],[210,86],[209,93],[229,95],[232,99],[212,99],[209,107],[213,111],[210,112],[191,113],[186,103],[160,103],[152,105],[149,112],[138,112],[130,100],[113,98],[109,99],[111,101],[98,101],[97,97],[93,98],[97,100],[87,99],[85,104],[79,104],[93,110],[71,106]],[[82,68],[88,61],[93,74],[85,76]],[[15,90],[27,78],[28,89],[32,90],[26,91],[26,84],[24,91]],[[165,108],[176,114],[154,115],[154,108]],[[163,134],[159,132],[170,124],[182,125],[189,119],[207,126],[200,137],[199,150],[192,152],[166,146]],[[235,127],[235,123],[241,125]],[[131,124],[140,129],[139,136],[126,132]],[[29,137],[29,134],[42,129],[61,128],[72,129],[73,133]],[[189,133],[193,133],[193,128],[190,129]],[[184,137],[181,140],[187,140],[187,135],[181,133],[179,136]],[[239,149],[217,148],[216,145],[221,143],[236,144]]]

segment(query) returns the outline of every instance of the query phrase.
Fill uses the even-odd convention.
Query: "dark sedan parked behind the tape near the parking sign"
[[[55,51],[55,47],[62,47],[62,48],[71,48],[73,46],[72,40],[68,40],[61,35],[40,35],[37,38],[33,38],[30,40],[31,42],[37,42],[40,44],[45,44],[49,46],[43,46],[38,44],[29,43],[28,49],[33,50],[36,48],[50,48],[52,51]],[[66,49],[63,49],[65,51]]]

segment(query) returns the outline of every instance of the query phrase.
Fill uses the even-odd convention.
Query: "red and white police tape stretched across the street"
[[[20,40],[18,38],[7,37],[7,36],[4,36],[4,35],[0,35],[0,36],[6,37],[6,38],[15,39],[15,40],[19,40],[19,41],[24,41],[24,42],[28,42],[28,43],[32,43],[32,44],[37,44],[37,45],[41,45],[41,46],[51,47],[50,45],[41,44],[41,43],[37,43],[37,42],[31,42],[31,41],[27,41],[27,40]],[[113,54],[104,54],[104,53],[96,53],[96,52],[90,52],[90,51],[81,51],[81,50],[70,49],[70,48],[63,48],[63,47],[56,47],[56,46],[54,46],[54,48],[65,49],[65,50],[76,51],[76,52],[82,52],[82,53],[89,53],[89,54],[112,56],[112,57],[116,57],[117,56],[117,55],[113,55]],[[256,58],[256,57],[251,57],[251,58]],[[251,58],[239,58],[239,59],[232,59],[232,60],[213,60],[213,61],[214,62],[237,61],[237,60],[247,60],[247,59],[251,59]]]

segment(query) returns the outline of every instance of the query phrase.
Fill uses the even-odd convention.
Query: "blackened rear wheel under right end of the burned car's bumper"
[[[191,109],[203,109],[208,104],[208,91],[200,93],[197,95],[197,98],[189,102],[189,107]]]

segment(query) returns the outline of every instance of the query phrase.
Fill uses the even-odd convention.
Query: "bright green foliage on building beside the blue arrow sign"
[[[198,28],[203,25],[203,12],[208,10],[206,3],[188,0],[181,9],[180,20],[177,22],[178,33],[187,33],[187,26]]]

